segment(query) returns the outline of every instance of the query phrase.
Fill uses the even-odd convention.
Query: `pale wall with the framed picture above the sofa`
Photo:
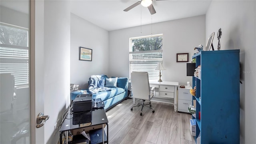
[[[71,14],[70,27],[70,83],[88,88],[91,75],[108,75],[108,31],[75,14]],[[92,49],[92,61],[79,60],[80,46]]]

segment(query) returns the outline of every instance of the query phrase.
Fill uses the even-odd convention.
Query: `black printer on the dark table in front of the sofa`
[[[92,110],[92,94],[79,94],[72,102],[73,113],[89,112]]]

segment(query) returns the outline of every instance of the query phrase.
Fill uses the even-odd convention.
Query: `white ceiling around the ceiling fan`
[[[124,12],[140,0],[72,0],[71,12],[104,28],[118,30],[145,24],[176,20],[206,14],[211,0],[156,0],[156,14],[141,5]]]

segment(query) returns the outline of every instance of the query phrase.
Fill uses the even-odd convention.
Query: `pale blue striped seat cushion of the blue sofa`
[[[123,88],[110,88],[109,91],[98,92],[96,94],[92,94],[92,98],[101,98],[102,101],[107,100],[108,98],[112,98],[118,94],[124,92]]]

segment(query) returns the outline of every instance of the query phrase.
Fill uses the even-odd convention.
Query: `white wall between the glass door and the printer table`
[[[54,144],[54,124],[70,98],[70,1],[44,1],[44,142]]]

